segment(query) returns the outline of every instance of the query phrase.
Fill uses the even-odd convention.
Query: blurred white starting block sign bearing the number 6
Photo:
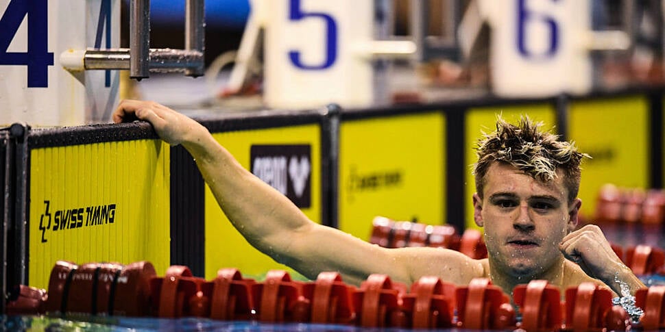
[[[589,0],[483,0],[492,27],[492,87],[505,97],[592,88]]]

